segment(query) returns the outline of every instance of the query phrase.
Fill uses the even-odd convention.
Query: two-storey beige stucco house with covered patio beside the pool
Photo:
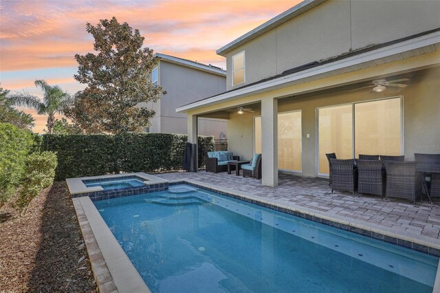
[[[263,185],[328,176],[325,153],[440,153],[440,1],[307,0],[217,54],[228,91],[177,112],[193,142],[195,118],[227,117],[229,151],[262,153]]]

